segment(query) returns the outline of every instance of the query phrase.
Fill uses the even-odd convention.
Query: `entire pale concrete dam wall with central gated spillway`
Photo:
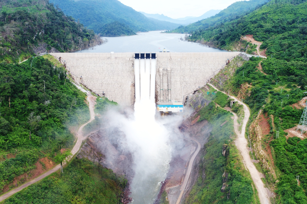
[[[240,52],[216,53],[52,53],[77,83],[124,106],[142,97],[140,74],[150,77],[150,99],[183,102]],[[137,93],[136,93],[137,92]],[[153,97],[155,95],[155,97]]]

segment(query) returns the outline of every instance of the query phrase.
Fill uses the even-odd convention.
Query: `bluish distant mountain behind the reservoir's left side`
[[[122,23],[133,32],[172,30],[180,25],[149,19],[117,0],[50,0],[50,3],[53,3],[66,15],[79,20],[87,28],[94,30],[95,33],[101,33],[104,25],[112,22]],[[118,34],[121,35],[121,33]]]

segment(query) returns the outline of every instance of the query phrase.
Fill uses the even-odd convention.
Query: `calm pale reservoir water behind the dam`
[[[134,36],[103,37],[108,42],[95,46],[94,49],[83,49],[77,53],[157,53],[163,51],[176,53],[203,53],[203,52],[227,52],[226,50],[206,47],[199,43],[182,41],[185,34],[161,33],[151,31],[138,33]]]

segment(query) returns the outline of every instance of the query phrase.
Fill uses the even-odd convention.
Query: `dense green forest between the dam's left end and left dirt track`
[[[70,148],[68,129],[90,119],[85,94],[63,67],[36,57],[21,64],[1,64],[0,189],[36,168],[39,158],[54,158]],[[15,158],[7,159],[8,154]]]

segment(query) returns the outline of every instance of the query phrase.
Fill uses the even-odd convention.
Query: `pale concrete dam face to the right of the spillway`
[[[158,104],[183,102],[202,87],[239,52],[157,53],[156,91]],[[170,82],[169,82],[170,81]]]

